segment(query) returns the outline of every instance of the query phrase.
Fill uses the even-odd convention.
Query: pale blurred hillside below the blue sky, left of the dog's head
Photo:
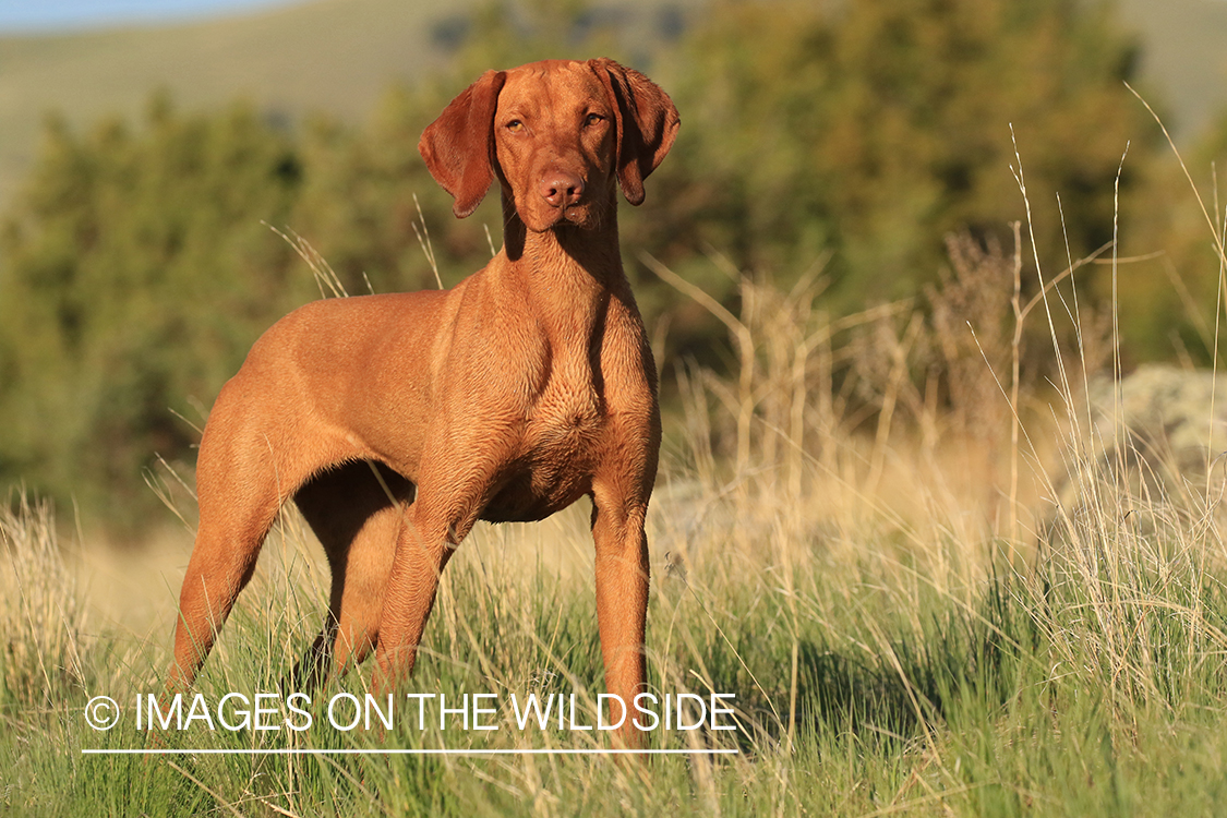
[[[371,108],[393,78],[445,58],[448,16],[422,0],[315,0],[216,21],[0,39],[0,201],[37,150],[45,112],[83,124],[141,110],[153,88],[185,107],[245,96],[287,113]]]

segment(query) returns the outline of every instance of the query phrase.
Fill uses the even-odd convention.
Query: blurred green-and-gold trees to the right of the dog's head
[[[1075,255],[1093,249],[1112,237],[1126,142],[1126,191],[1153,142],[1121,83],[1135,49],[1109,11],[1071,0],[717,4],[674,69],[682,131],[661,169],[671,206],[658,235],[671,237],[671,255],[709,243],[784,280],[833,251],[845,307],[910,294],[944,265],[945,235],[1007,239],[1025,217],[1012,124],[1042,256],[1065,256],[1054,193]]]

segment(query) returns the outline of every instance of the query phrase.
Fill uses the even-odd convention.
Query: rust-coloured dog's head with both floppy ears
[[[422,134],[431,175],[469,216],[497,177],[530,231],[596,227],[632,205],[672,147],[677,109],[638,71],[610,59],[547,60],[487,71]]]

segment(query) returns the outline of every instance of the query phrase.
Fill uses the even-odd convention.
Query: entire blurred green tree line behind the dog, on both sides
[[[621,31],[583,0],[493,2],[448,29],[453,71],[391,90],[362,126],[283,131],[243,105],[187,117],[164,101],[140,129],[53,123],[0,223],[0,482],[136,519],[141,470],[190,460],[196,439],[168,407],[199,421],[259,332],[319,293],[261,221],[310,242],[351,294],[436,286],[426,231],[444,286],[481,266],[497,190],[455,220],[417,141],[490,66],[607,55],[665,87],[681,135],[647,202],[620,211],[623,243],[730,305],[736,277],[709,248],[784,286],[829,254],[839,312],[920,292],[961,228],[1009,247],[1025,217],[1011,123],[1049,267],[1065,259],[1055,193],[1077,258],[1112,237],[1126,142],[1126,215],[1145,216],[1136,180],[1157,178],[1157,131],[1121,85],[1135,52],[1093,0],[717,0],[655,54]],[[626,260],[649,325],[679,312],[674,350],[723,345]]]

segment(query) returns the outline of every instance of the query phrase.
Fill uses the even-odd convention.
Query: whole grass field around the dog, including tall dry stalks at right
[[[937,303],[1010,292],[1009,255],[952,248],[952,258]],[[1015,396],[1009,327],[994,336],[978,325],[983,359],[937,408],[903,373],[930,331],[931,347],[974,359],[958,352],[971,343],[950,329],[958,321],[930,330],[887,307],[829,323],[810,296],[744,281],[742,314],[725,315],[740,370],[676,373],[685,408],[669,422],[650,519],[652,689],[734,694],[737,730],[655,730],[649,746],[735,753],[626,763],[352,752],[609,746],[599,731],[521,730],[508,706],[512,694],[574,693],[579,724],[593,724],[602,681],[587,509],[480,527],[444,575],[412,690],[453,703],[493,694],[482,717],[499,730],[465,730],[459,716],[420,730],[416,709],[385,730],[329,726],[324,699],[361,697],[363,667],[315,697],[302,732],[198,720],[151,735],[136,728],[133,703],[161,690],[189,533],[109,569],[139,576],[146,560],[169,560],[166,586],[86,587],[72,567],[80,543],[65,548],[74,537],[61,541],[47,509],[17,502],[0,511],[0,806],[34,816],[1214,814],[1227,798],[1222,486],[1164,493],[1133,480],[1144,464],[1096,465],[1080,411],[1065,408],[1080,405],[1090,338],[1058,370],[1060,389],[1023,385]],[[834,342],[858,327],[859,341]],[[840,350],[859,352],[845,388],[832,389]],[[867,434],[850,430],[865,426],[852,390],[876,407]],[[1028,402],[1058,407],[1056,419]],[[1026,423],[1014,423],[1015,408]],[[1056,472],[1076,498],[1064,510],[1044,499],[1067,491],[1053,486]],[[166,473],[158,486],[190,529],[190,493]],[[319,628],[325,587],[318,547],[286,514],[206,665],[206,700],[282,690]],[[103,610],[147,616],[113,621]],[[86,725],[96,695],[124,710],[109,732]],[[301,719],[270,714],[272,724]],[[233,709],[226,717],[240,720]],[[82,753],[123,748],[347,753]]]

